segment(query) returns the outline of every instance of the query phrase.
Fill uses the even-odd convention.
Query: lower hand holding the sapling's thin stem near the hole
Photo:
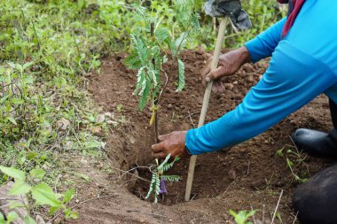
[[[183,157],[188,154],[185,150],[185,137],[187,131],[174,131],[168,135],[159,136],[161,143],[153,144],[154,158],[165,158],[171,154],[172,158]]]

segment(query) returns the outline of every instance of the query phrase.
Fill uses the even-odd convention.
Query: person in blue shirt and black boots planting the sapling
[[[285,3],[287,1],[278,2]],[[219,66],[203,70],[205,81],[222,91],[221,77],[247,62],[271,57],[263,78],[238,107],[222,118],[188,131],[161,135],[153,156],[164,158],[219,151],[259,135],[297,111],[321,93],[330,99],[333,126],[337,126],[337,1],[293,0],[288,17],[220,57]],[[322,158],[337,158],[337,129],[325,134],[310,129],[295,131],[302,151]],[[294,192],[294,208],[303,223],[337,223],[337,166],[313,176]]]

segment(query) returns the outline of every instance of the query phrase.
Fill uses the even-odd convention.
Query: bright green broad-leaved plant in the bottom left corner
[[[23,218],[26,223],[35,223],[35,220],[31,217],[31,212],[35,207],[43,205],[50,207],[49,212],[51,214],[62,210],[65,213],[66,219],[78,218],[78,213],[71,211],[67,206],[74,195],[74,189],[69,189],[64,194],[54,193],[47,183],[42,182],[45,174],[43,169],[32,169],[28,175],[24,171],[12,167],[0,166],[0,170],[8,179],[14,179],[14,184],[9,191],[9,196],[20,196],[20,198],[24,198],[18,201],[16,198],[11,200],[10,197],[8,199],[10,203],[6,206],[9,206],[11,209],[24,208],[27,211],[27,216]],[[11,221],[17,218],[18,214],[12,212],[6,215],[6,220],[4,220],[4,215],[0,212],[0,223],[5,223],[5,221],[11,223]]]

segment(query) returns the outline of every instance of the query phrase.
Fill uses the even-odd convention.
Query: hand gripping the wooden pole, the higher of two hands
[[[211,71],[210,65],[212,58],[208,58],[206,66],[201,70],[201,80],[204,86],[208,81],[214,81],[212,86],[213,92],[222,93],[224,90],[221,78],[226,75],[236,73],[240,66],[250,61],[249,51],[246,47],[237,50],[231,50],[220,56],[218,67]]]

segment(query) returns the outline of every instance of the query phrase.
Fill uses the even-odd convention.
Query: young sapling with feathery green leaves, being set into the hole
[[[180,57],[188,42],[192,42],[197,30],[200,28],[199,13],[196,10],[194,0],[172,1],[172,20],[175,24],[167,26],[164,15],[156,11],[153,5],[147,7],[134,5],[135,17],[142,21],[135,26],[132,34],[132,51],[124,63],[131,69],[137,70],[137,86],[134,95],[140,97],[138,108],[143,110],[147,104],[151,104],[152,116],[150,125],[155,122],[155,137],[158,142],[158,110],[161,104],[161,96],[170,81],[170,74],[177,67],[176,91],[184,89],[184,62]],[[171,28],[169,28],[171,27]],[[163,67],[169,60],[172,65],[169,71]],[[153,178],[148,198],[154,192],[154,202],[157,196],[166,189],[164,181],[178,181],[178,176],[164,175],[178,160],[168,163],[169,157],[153,170]]]

